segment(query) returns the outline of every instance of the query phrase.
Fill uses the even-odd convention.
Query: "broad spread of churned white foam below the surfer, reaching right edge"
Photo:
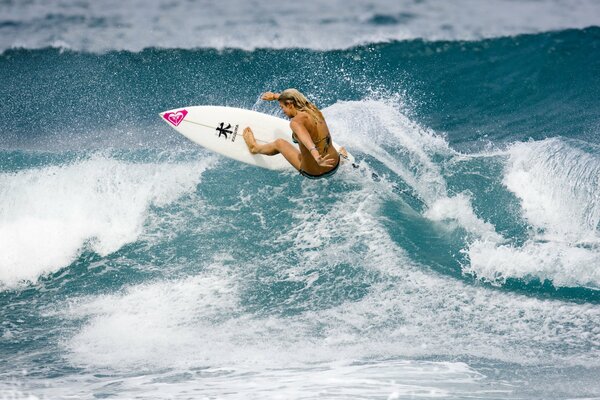
[[[213,392],[203,384],[204,379],[214,383],[214,393],[219,393],[223,390],[219,376],[226,379],[231,374],[230,382],[237,385],[237,373],[254,384],[265,383],[254,388],[239,383],[244,393],[273,389],[264,381],[266,376],[278,382],[280,390],[293,391],[298,388],[298,371],[305,379],[304,388],[326,387],[320,378],[327,376],[349,393],[346,391],[364,383],[366,377],[360,371],[353,375],[352,367],[346,370],[338,368],[340,365],[431,354],[525,365],[600,366],[600,331],[592,329],[600,318],[597,307],[490,291],[424,270],[381,226],[381,197],[369,186],[373,183],[365,181],[366,187],[340,195],[321,218],[309,218],[319,206],[306,200],[322,184],[326,183],[311,182],[303,188],[294,212],[295,228],[281,239],[290,246],[281,254],[262,254],[253,264],[244,260],[227,267],[216,263],[195,277],[151,282],[61,305],[60,315],[86,321],[64,341],[70,362],[114,372],[215,371],[215,375],[206,372],[186,378],[186,385],[205,393]],[[356,212],[348,215],[348,209]],[[322,238],[315,244],[318,249],[298,247],[306,232]],[[296,252],[303,256],[300,262],[286,264]],[[314,309],[292,317],[256,314],[247,308],[243,289],[256,273],[257,264],[277,271],[264,279],[297,281],[304,277],[304,290],[311,290],[313,285],[325,284],[318,281],[319,275],[327,274],[333,265],[356,259],[362,268],[379,275],[359,300],[331,307],[316,303]],[[309,271],[311,275],[307,275]],[[344,285],[346,279],[351,278],[339,276],[335,285]],[[328,290],[321,289],[313,294],[317,302],[324,300]],[[302,295],[302,290],[297,294]],[[327,365],[332,364],[336,368],[328,371]],[[325,372],[313,374],[311,369],[319,365],[326,366]],[[386,373],[385,365],[380,374]],[[414,367],[414,379],[421,379],[414,390],[436,387],[429,366],[416,363]],[[446,384],[445,367],[439,367],[440,379]],[[454,370],[460,365],[450,363],[448,367]],[[459,375],[465,385],[476,384],[476,371],[463,367]],[[295,372],[288,376],[286,369]],[[375,375],[377,369],[374,367]],[[408,390],[404,385],[411,379],[397,379],[397,392],[403,393],[401,387]],[[392,387],[385,388],[393,392]]]

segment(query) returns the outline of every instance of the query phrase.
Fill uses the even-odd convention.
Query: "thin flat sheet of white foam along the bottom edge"
[[[144,373],[124,379],[80,374],[52,380],[36,397],[6,385],[0,396],[11,400],[94,399],[115,396],[129,399],[306,399],[306,398],[465,398],[477,393],[497,398],[509,394],[510,385],[490,382],[462,362],[370,360],[368,362],[313,363],[299,370],[245,367],[183,369]],[[37,383],[37,382],[36,382]],[[37,386],[40,386],[39,383]],[[494,397],[496,396],[496,397]]]

